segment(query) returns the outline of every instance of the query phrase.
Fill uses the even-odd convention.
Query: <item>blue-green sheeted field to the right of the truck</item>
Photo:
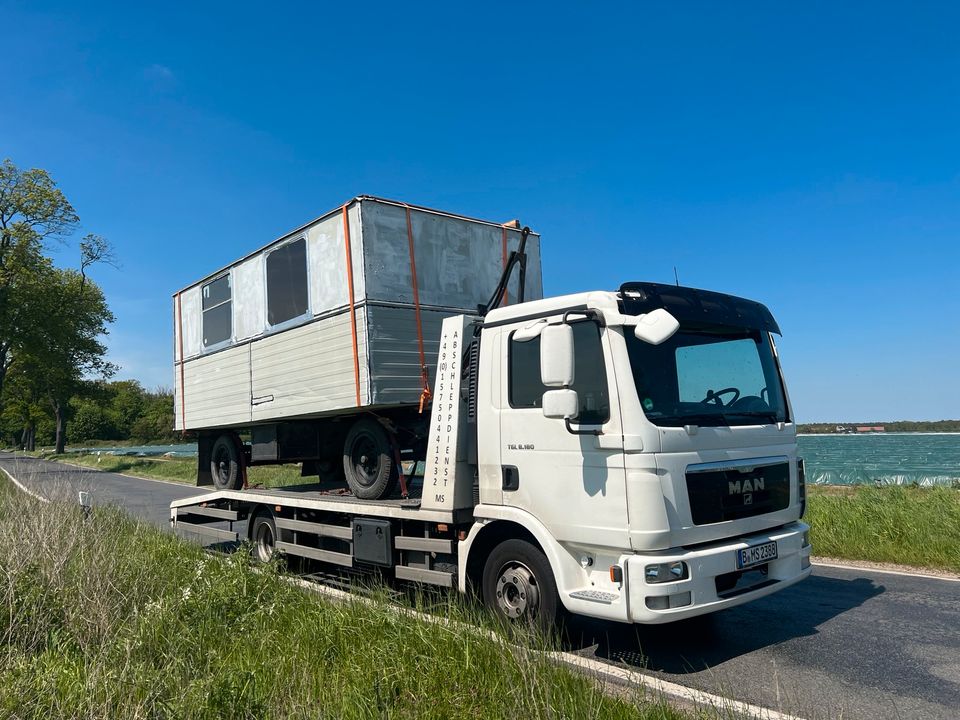
[[[809,483],[960,483],[960,434],[801,435],[798,442]]]

